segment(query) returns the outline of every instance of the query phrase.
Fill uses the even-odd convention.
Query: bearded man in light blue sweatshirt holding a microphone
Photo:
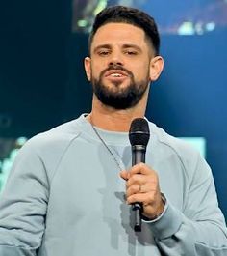
[[[149,122],[146,164],[131,167],[128,131],[163,70],[159,44],[153,18],[139,10],[97,15],[85,59],[92,111],[20,151],[0,200],[0,255],[227,255],[201,156]],[[135,202],[141,232],[132,226]]]

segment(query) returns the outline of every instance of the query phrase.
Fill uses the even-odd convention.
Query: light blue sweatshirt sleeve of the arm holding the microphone
[[[225,220],[218,208],[211,169],[203,158],[197,160],[184,211],[166,199],[164,213],[149,221],[149,227],[164,255],[227,255]]]

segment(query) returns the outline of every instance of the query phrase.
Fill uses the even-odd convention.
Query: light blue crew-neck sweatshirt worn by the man
[[[157,171],[164,213],[132,227],[122,169],[126,132],[98,129],[82,115],[38,134],[16,157],[0,198],[1,256],[226,256],[227,231],[206,161],[149,123],[146,163]]]

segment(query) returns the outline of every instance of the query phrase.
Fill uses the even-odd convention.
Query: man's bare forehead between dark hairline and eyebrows
[[[102,25],[95,33],[91,49],[99,44],[124,44],[136,43],[147,46],[144,31],[134,25],[127,23],[107,23]]]

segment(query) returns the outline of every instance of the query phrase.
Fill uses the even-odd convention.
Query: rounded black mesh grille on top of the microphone
[[[129,129],[129,140],[132,146],[147,146],[150,138],[148,122],[144,118],[136,118]]]

